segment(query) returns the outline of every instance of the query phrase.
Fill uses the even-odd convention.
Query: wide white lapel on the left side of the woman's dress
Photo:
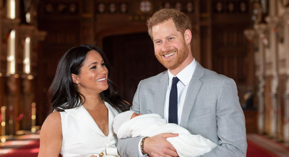
[[[91,129],[103,137],[106,137],[82,105],[78,108],[66,109],[64,111],[85,127]]]

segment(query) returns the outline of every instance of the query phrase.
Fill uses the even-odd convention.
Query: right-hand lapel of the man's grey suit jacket
[[[205,68],[203,68],[198,62],[194,71],[194,74],[191,78],[191,81],[188,86],[187,95],[185,98],[185,103],[182,111],[182,118],[180,126],[187,129],[189,116],[194,105],[194,102],[199,93],[200,87],[203,82],[200,80],[204,76]]]

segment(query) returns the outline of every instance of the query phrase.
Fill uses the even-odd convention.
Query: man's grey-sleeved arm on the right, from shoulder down
[[[222,83],[216,104],[216,119],[219,145],[202,156],[246,156],[245,117],[233,79],[227,78]]]

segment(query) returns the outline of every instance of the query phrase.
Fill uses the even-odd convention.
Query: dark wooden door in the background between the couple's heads
[[[110,78],[129,103],[140,80],[166,70],[154,56],[154,45],[148,33],[104,38],[103,50],[111,65]]]

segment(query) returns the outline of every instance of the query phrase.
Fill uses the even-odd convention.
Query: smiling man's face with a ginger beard
[[[152,27],[154,55],[167,69],[179,67],[188,57],[188,45],[184,35],[176,30],[172,20]]]

